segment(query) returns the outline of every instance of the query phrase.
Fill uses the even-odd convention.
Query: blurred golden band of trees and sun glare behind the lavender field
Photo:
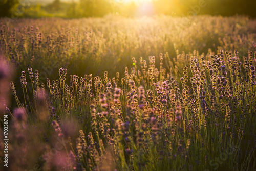
[[[2,0],[0,17],[102,17],[144,15],[222,15],[255,17],[256,1],[243,0]]]

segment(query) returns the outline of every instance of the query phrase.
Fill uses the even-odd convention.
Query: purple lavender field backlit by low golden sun
[[[256,170],[255,41],[246,16],[0,18],[0,170]]]

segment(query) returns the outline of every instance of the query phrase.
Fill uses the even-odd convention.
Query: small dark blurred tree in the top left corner
[[[11,17],[12,9],[17,7],[18,4],[18,0],[0,0],[0,17]]]

